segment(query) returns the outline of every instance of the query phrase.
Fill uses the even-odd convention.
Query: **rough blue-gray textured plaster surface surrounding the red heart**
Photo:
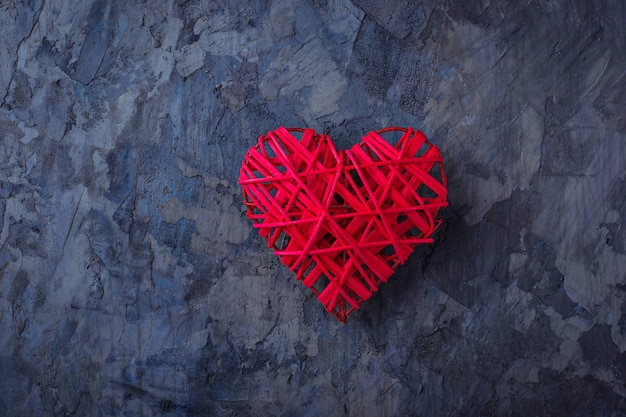
[[[439,3],[2,1],[0,414],[626,413],[625,3]],[[243,215],[279,125],[446,158],[347,325]]]

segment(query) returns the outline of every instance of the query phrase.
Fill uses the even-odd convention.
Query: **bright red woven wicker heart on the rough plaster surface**
[[[393,132],[395,146],[383,138]],[[325,134],[280,127],[248,150],[239,183],[259,234],[343,323],[433,241],[448,204],[441,153],[411,128],[337,151]]]

